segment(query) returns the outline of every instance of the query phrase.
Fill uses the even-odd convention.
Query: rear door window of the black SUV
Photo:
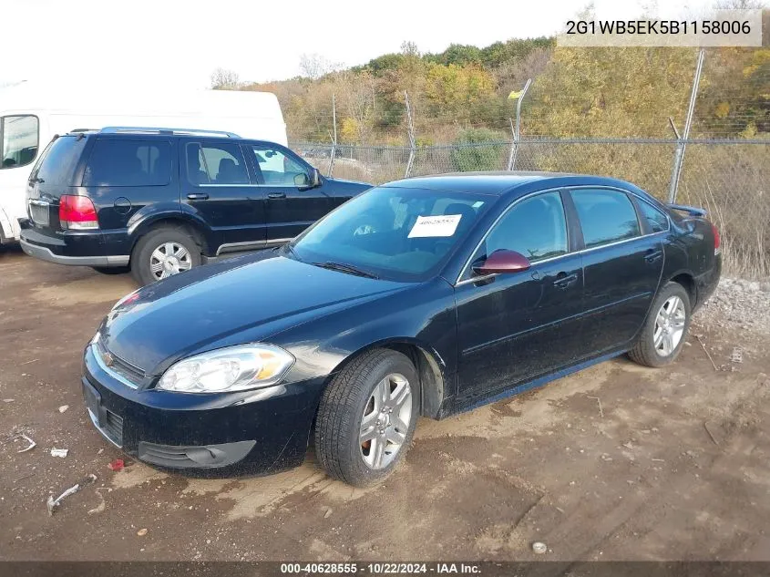
[[[249,184],[249,173],[237,144],[187,145],[187,178],[199,185]]]

